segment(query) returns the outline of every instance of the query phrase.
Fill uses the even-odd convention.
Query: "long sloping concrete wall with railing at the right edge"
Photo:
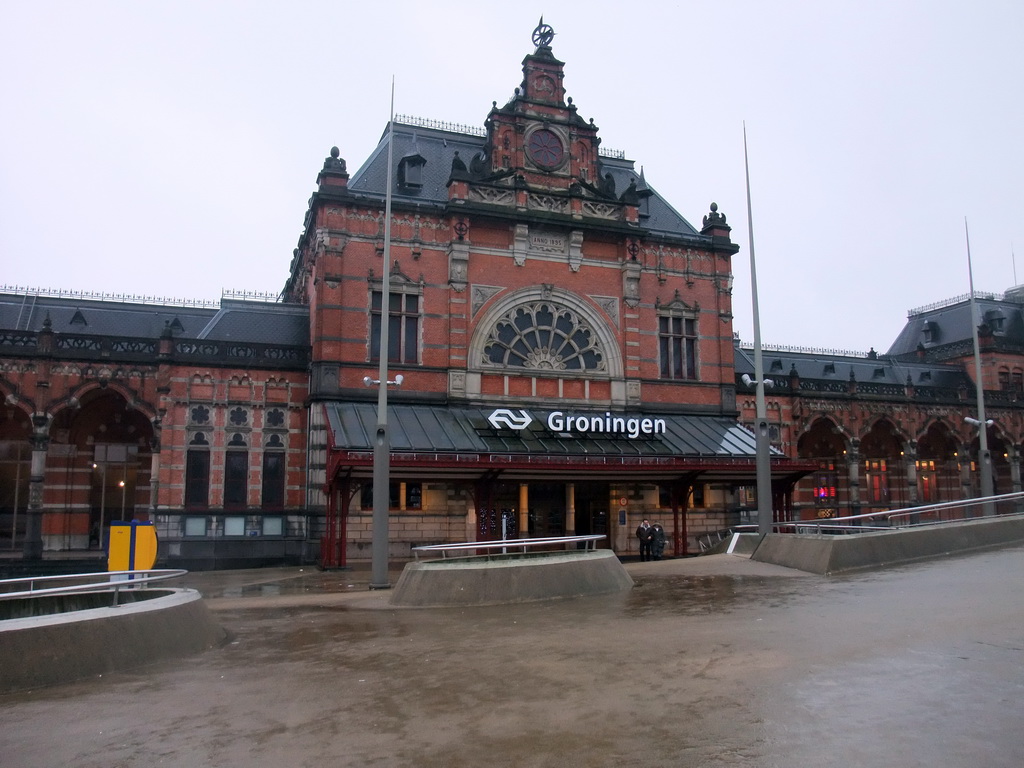
[[[848,536],[769,534],[751,559],[811,573],[841,573],[1024,542],[1024,517],[984,517]]]

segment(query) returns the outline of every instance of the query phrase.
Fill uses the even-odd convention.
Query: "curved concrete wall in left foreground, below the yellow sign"
[[[215,646],[226,633],[195,590],[118,607],[0,622],[0,691],[109,674]]]

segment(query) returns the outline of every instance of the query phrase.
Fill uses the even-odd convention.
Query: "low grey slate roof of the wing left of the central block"
[[[216,306],[0,293],[0,330],[156,339],[170,324],[175,338],[259,344],[309,344],[309,310],[298,304],[224,299]]]

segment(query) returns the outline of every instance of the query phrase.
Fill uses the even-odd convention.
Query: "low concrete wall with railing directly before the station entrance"
[[[484,560],[455,558],[408,563],[392,605],[494,605],[633,589],[610,550],[545,553]]]

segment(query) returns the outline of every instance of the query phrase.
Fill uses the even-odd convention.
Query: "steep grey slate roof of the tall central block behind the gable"
[[[394,204],[416,204],[446,206],[449,202],[447,181],[452,175],[452,161],[455,154],[467,166],[473,157],[483,150],[485,139],[470,133],[452,130],[407,125],[395,122],[394,150],[392,163],[397,171],[402,158],[419,155],[426,164],[423,168],[421,187],[404,186],[398,181],[397,172],[392,174],[391,199]],[[367,158],[362,166],[352,175],[348,190],[374,198],[383,198],[387,186],[387,144],[388,131],[381,136],[380,143]],[[615,190],[625,191],[631,181],[636,181],[639,189],[649,189],[650,196],[642,197],[640,203],[640,224],[651,232],[701,238],[697,229],[681,216],[660,195],[651,189],[646,180],[634,169],[632,160],[601,158],[601,176],[610,173],[615,180]]]

